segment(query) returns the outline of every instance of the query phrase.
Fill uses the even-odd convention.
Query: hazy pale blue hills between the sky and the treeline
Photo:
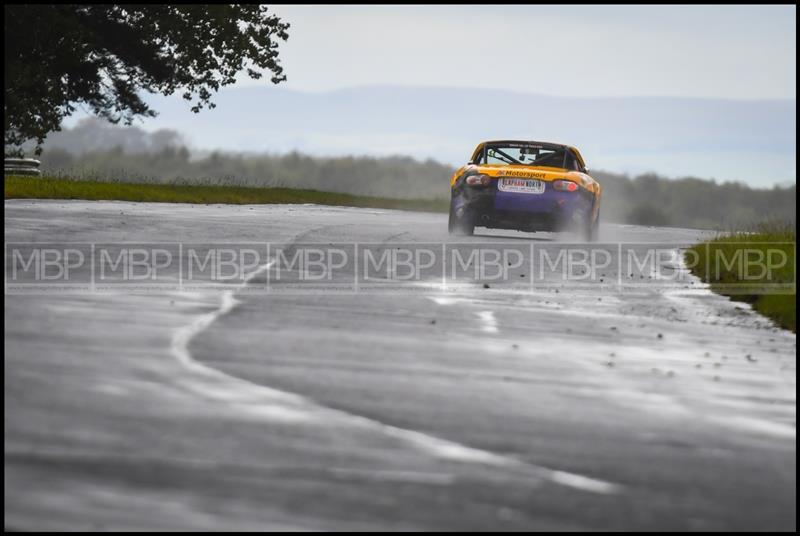
[[[591,81],[587,81],[591,83]],[[672,97],[563,98],[499,90],[371,86],[326,93],[226,89],[199,114],[153,97],[147,130],[173,129],[195,149],[311,155],[410,155],[460,164],[481,140],[578,146],[590,168],[796,182],[796,101]]]

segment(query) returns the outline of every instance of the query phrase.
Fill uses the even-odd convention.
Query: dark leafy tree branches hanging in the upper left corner
[[[244,71],[286,79],[289,25],[260,5],[8,5],[5,144],[59,130],[76,106],[112,123],[154,116],[143,92],[180,92],[192,110]]]

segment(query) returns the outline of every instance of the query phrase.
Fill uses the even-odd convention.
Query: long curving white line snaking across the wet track
[[[191,324],[175,331],[172,337],[172,355],[188,369],[202,374],[205,380],[192,382],[189,387],[200,391],[203,395],[211,394],[217,400],[233,404],[237,408],[244,409],[249,413],[255,413],[261,417],[295,421],[314,420],[315,417],[323,417],[325,420],[339,418],[350,424],[378,430],[440,459],[499,467],[517,467],[532,472],[535,477],[581,491],[601,494],[619,492],[620,486],[618,484],[540,467],[511,456],[503,456],[486,450],[468,447],[423,432],[398,428],[367,417],[331,409],[300,395],[252,383],[196,361],[189,352],[189,342],[192,338],[207,329],[218,318],[232,311],[239,303],[235,298],[236,292],[244,288],[254,277],[269,270],[274,263],[275,261],[270,261],[260,266],[257,270],[248,274],[241,284],[225,291],[217,310],[201,315]],[[488,315],[485,315],[487,326],[491,326],[493,322],[496,331],[497,321],[494,320],[494,314],[491,311],[484,313],[488,313]],[[220,385],[221,382],[222,384]],[[231,388],[232,386],[233,388]]]

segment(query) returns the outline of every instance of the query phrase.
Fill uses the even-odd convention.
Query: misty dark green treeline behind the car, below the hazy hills
[[[299,153],[195,153],[180,135],[147,133],[96,120],[51,135],[42,167],[75,178],[158,183],[285,186],[330,192],[443,199],[453,168],[390,157],[311,157]],[[604,188],[605,221],[707,229],[741,228],[766,220],[795,222],[796,186],[754,189],[697,178],[593,171]]]

